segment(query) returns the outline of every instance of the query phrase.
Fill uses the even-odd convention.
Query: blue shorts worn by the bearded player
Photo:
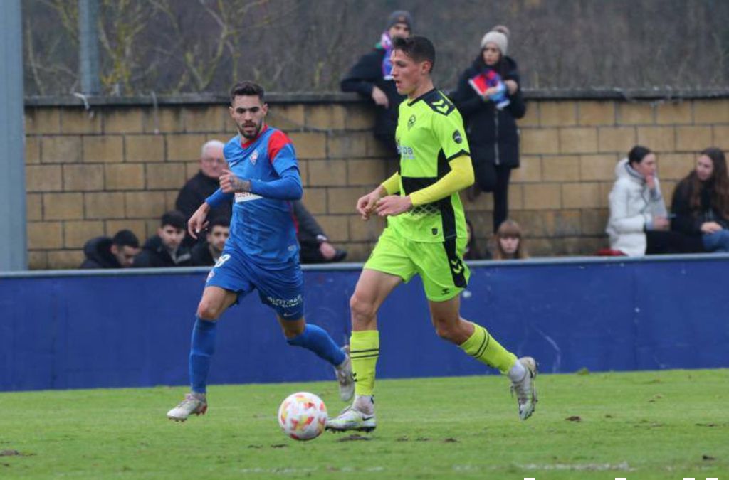
[[[296,261],[284,269],[266,269],[243,253],[225,248],[208,274],[205,286],[235,292],[236,304],[255,288],[261,302],[284,320],[299,320],[304,316],[304,276]]]

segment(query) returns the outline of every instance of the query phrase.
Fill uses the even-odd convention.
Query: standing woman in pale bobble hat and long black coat
[[[466,125],[476,185],[484,192],[494,192],[494,232],[509,213],[509,178],[511,169],[519,167],[516,119],[526,113],[516,62],[506,56],[508,39],[502,32],[507,30],[497,28],[499,31],[490,31],[481,39],[481,50],[461,74],[453,95]],[[494,73],[502,86],[477,93],[473,80]],[[501,93],[507,101],[499,98],[499,89],[505,89]]]

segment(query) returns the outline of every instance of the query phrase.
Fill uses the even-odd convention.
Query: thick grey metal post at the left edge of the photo
[[[20,0],[0,1],[0,271],[28,267]]]

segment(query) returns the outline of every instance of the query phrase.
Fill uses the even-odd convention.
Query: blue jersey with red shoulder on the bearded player
[[[232,247],[267,267],[290,265],[299,252],[290,201],[303,194],[291,140],[264,125],[252,140],[231,138],[223,154],[230,171],[251,182],[251,192],[223,194],[218,189],[206,199],[211,206],[234,202],[225,250]]]

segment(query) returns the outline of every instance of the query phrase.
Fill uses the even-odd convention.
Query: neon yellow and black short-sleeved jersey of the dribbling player
[[[402,196],[434,184],[451,171],[448,162],[469,154],[461,114],[440,90],[433,89],[400,103],[395,139]],[[390,216],[387,222],[400,235],[416,242],[443,242],[467,236],[458,192]]]

